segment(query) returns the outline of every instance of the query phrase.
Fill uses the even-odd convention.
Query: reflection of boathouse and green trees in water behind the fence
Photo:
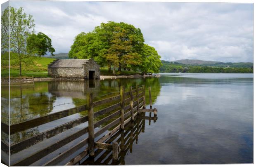
[[[126,85],[128,88],[130,85],[136,84],[142,85],[146,83],[147,86],[154,85],[152,87],[152,100],[156,100],[157,95],[160,92],[160,83],[158,78],[148,79],[135,79],[135,80],[85,80],[85,81],[49,81],[49,82],[35,82],[34,84],[26,85],[10,85],[10,122],[11,125],[33,118],[42,117],[50,113],[55,113],[68,108],[83,105],[87,103],[86,94],[92,92],[93,96],[102,96],[110,92],[119,92],[121,85]],[[2,111],[6,109],[8,111],[8,85],[2,85]],[[148,92],[147,92],[148,94]],[[147,95],[146,94],[146,95]],[[3,101],[5,99],[5,101]],[[148,99],[148,98],[147,98]],[[5,107],[5,108],[3,108]],[[11,143],[16,143],[24,139],[28,139],[40,132],[53,127],[59,126],[70,120],[79,118],[83,115],[87,115],[87,112],[81,112],[71,115],[66,118],[49,122],[38,127],[33,127],[10,136]],[[8,141],[9,139],[5,139]]]

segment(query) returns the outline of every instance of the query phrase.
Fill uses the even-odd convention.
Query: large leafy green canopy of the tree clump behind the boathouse
[[[152,53],[155,51],[153,49],[152,47]],[[143,69],[143,72],[148,73],[149,69],[146,70],[144,65],[145,60],[151,63],[150,59],[159,59],[156,62],[161,64],[160,56],[156,51],[151,56],[146,55],[148,53],[150,51],[145,52],[144,38],[140,28],[123,22],[109,21],[96,26],[92,32],[78,34],[69,51],[69,57],[93,58],[101,66],[108,66],[109,72],[113,66],[113,73],[116,67],[119,71],[121,68],[124,70]],[[158,72],[160,65],[158,66],[157,63],[155,65],[157,66],[152,68],[151,72]]]

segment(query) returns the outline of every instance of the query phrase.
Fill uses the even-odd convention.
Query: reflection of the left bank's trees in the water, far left
[[[11,125],[49,114],[53,109],[55,96],[47,92],[34,92],[34,85],[15,85],[10,101]],[[22,141],[39,133],[38,127],[33,127],[10,136],[11,143]]]

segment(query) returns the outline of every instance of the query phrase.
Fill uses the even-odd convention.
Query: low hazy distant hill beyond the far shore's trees
[[[250,62],[239,62],[239,63],[224,63],[220,61],[204,61],[204,60],[192,60],[192,59],[183,59],[172,61],[178,64],[185,64],[190,66],[213,66],[213,67],[246,67],[251,68],[253,63]]]

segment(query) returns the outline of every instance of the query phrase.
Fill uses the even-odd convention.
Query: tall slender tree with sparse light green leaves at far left
[[[10,51],[17,53],[19,63],[19,75],[21,75],[21,62],[29,58],[26,50],[28,35],[34,32],[34,19],[32,15],[23,13],[22,7],[15,9],[10,7]]]

